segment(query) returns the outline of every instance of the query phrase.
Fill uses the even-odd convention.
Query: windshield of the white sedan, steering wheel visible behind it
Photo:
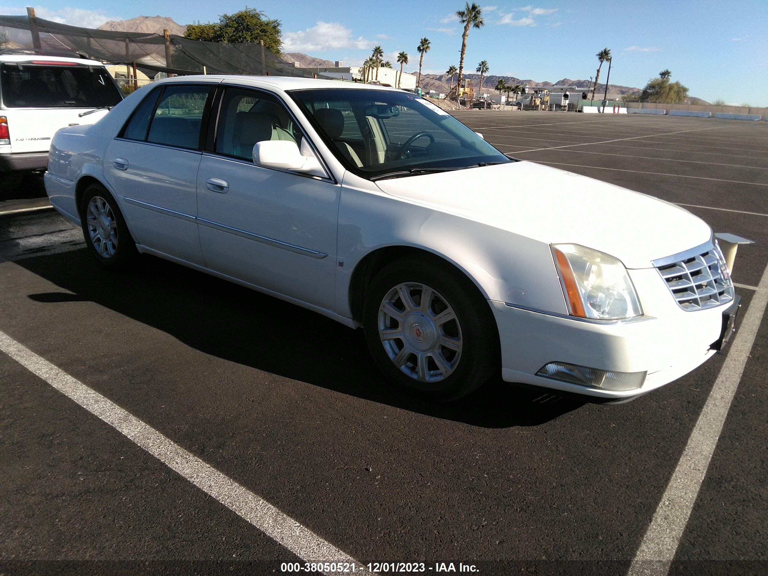
[[[362,177],[511,162],[448,112],[415,94],[360,88],[289,94],[339,161]]]

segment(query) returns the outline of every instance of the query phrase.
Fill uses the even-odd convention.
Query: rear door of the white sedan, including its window
[[[197,237],[200,129],[216,84],[164,84],[138,105],[104,154],[104,174],[121,197],[135,240],[204,266]]]

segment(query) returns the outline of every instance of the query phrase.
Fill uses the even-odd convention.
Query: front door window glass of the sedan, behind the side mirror
[[[216,151],[251,160],[253,145],[265,140],[286,140],[301,146],[303,135],[285,106],[271,94],[227,88],[221,101]]]

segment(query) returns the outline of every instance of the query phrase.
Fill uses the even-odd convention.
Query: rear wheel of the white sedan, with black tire
[[[97,204],[101,204],[98,200],[101,199],[107,207],[105,219],[95,220],[96,230],[91,229],[94,220],[91,218],[89,221],[89,206],[91,206],[91,200],[94,199],[96,199]],[[100,228],[99,225],[101,223],[111,223],[112,221],[114,221],[114,226],[111,227],[111,240],[102,242],[101,233],[106,231],[107,227]],[[134,243],[131,232],[128,231],[128,227],[125,225],[125,219],[120,208],[118,208],[118,203],[101,184],[90,184],[85,189],[80,201],[80,222],[88,251],[93,254],[98,263],[113,270],[118,270],[134,263],[138,256],[136,243]],[[97,233],[94,234],[94,231]]]

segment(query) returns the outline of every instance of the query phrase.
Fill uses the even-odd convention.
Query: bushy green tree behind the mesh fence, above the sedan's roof
[[[256,8],[244,8],[234,14],[222,14],[219,22],[190,24],[184,38],[230,44],[255,43],[264,41],[264,48],[280,55],[283,41],[280,40],[280,20],[267,18]]]

